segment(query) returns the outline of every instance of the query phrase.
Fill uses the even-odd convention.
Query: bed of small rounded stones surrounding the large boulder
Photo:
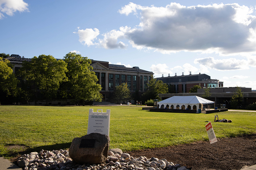
[[[121,154],[122,157],[118,158],[119,154],[114,154],[115,156],[107,156],[105,162],[101,164],[77,164],[69,156],[69,151],[40,151],[36,155],[39,157],[41,154],[46,154],[52,152],[56,156],[50,158],[35,158],[29,161],[34,162],[23,165],[23,170],[188,170],[187,167],[181,167],[180,164],[175,164],[173,162],[168,162],[166,159],[150,158],[147,159],[144,156],[139,158],[134,158],[127,153]],[[66,152],[65,156],[59,158],[57,155]],[[109,152],[106,152],[109,153]],[[64,155],[64,154],[63,154]],[[18,164],[24,163],[28,160],[31,155],[22,155]],[[46,155],[44,155],[46,156]],[[124,156],[129,156],[129,158],[124,158]]]

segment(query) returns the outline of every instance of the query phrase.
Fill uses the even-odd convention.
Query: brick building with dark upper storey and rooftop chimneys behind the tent
[[[170,76],[169,74],[168,77],[163,77],[162,74],[162,77],[156,78],[156,80],[162,80],[163,83],[174,85],[176,93],[188,93],[194,85],[199,85],[201,88],[223,87],[223,82],[211,79],[209,75],[201,73],[191,74],[190,72],[189,75],[184,75],[182,72],[180,76],[175,73],[175,76]]]

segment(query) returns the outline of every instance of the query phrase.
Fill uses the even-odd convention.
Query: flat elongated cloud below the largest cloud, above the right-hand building
[[[249,69],[248,60],[238,60],[236,58],[222,60],[214,59],[213,57],[197,58],[194,60],[194,63],[200,63],[208,68],[222,71]]]

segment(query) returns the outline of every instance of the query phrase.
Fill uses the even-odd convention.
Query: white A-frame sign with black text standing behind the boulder
[[[97,109],[97,112],[93,112],[93,109],[89,109],[87,134],[99,133],[109,136],[109,125],[110,110],[103,112],[102,109]]]

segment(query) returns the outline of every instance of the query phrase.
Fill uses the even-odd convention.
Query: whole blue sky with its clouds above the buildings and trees
[[[255,1],[0,0],[0,53],[208,74],[256,90]]]

